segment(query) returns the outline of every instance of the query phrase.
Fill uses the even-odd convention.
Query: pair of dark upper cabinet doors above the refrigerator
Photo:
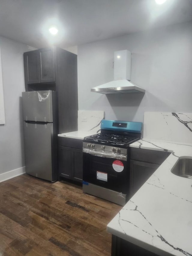
[[[27,84],[55,82],[54,48],[43,48],[24,53]]]

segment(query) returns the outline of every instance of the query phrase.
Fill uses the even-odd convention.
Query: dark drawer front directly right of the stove
[[[170,152],[131,148],[131,159],[153,164],[162,164]]]

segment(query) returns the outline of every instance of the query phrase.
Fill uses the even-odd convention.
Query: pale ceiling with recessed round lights
[[[192,0],[0,0],[0,35],[62,48],[192,20]],[[51,36],[48,28],[58,27]]]

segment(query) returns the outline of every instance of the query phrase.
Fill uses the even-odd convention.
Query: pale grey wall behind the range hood
[[[113,80],[113,54],[132,52],[131,81],[143,94],[102,95],[92,87]],[[79,110],[106,119],[143,122],[144,111],[192,112],[192,23],[78,46]]]

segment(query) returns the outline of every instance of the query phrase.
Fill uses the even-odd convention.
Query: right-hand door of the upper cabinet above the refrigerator
[[[39,50],[40,83],[55,82],[53,48]]]

